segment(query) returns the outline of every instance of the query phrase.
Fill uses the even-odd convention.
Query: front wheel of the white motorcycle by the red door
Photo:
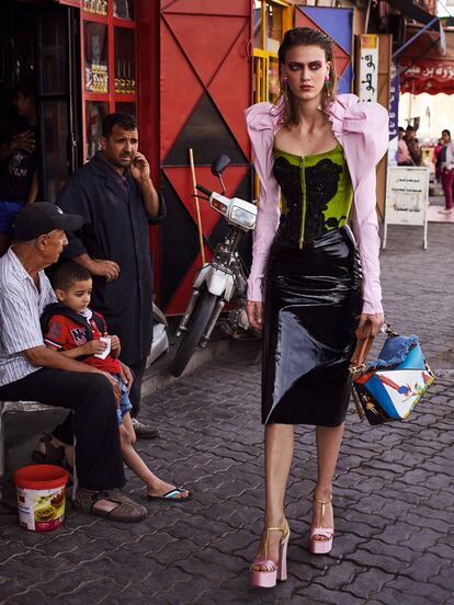
[[[173,358],[170,374],[172,376],[181,376],[184,368],[189,364],[197,344],[200,343],[213,311],[216,307],[217,296],[209,292],[201,294],[194,310],[191,313],[186,326],[186,331],[181,335],[180,346]]]

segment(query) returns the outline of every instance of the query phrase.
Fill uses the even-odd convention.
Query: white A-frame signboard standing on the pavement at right
[[[424,228],[423,247],[428,247],[429,169],[412,165],[388,167],[386,180],[383,248],[388,225],[420,225]]]

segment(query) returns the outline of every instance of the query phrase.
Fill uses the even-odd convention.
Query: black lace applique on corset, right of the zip
[[[329,218],[325,221],[324,213],[328,209],[329,202],[338,192],[339,179],[342,167],[332,160],[320,160],[316,165],[306,168],[306,233],[317,237],[329,229],[339,226],[344,218]],[[334,224],[336,222],[336,224]]]

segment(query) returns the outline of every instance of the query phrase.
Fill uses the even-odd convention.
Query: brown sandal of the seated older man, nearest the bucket
[[[100,500],[107,500],[117,504],[112,511],[103,511],[95,506]],[[147,509],[134,502],[121,490],[93,491],[79,488],[76,498],[72,501],[72,507],[76,511],[92,515],[103,516],[111,521],[121,521],[123,523],[135,523],[143,521],[147,516]]]

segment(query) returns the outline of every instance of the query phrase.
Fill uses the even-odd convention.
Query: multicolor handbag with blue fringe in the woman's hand
[[[356,412],[370,424],[407,418],[434,380],[418,336],[401,336],[386,326],[387,339],[378,358],[366,362],[373,336],[356,331],[353,354],[352,392]]]

